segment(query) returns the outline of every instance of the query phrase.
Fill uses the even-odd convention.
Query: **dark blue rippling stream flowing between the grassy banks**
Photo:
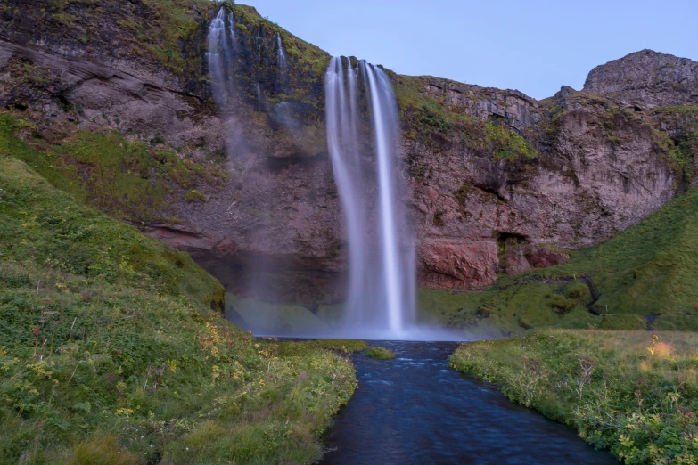
[[[618,464],[567,426],[448,368],[455,343],[382,342],[355,355],[359,387],[325,436],[323,465]]]

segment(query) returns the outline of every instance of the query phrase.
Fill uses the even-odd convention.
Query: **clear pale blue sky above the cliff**
[[[698,61],[698,0],[238,0],[333,55],[400,74],[581,89],[596,65],[650,48]]]

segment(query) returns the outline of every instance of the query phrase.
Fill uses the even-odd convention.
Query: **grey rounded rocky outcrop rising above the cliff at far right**
[[[630,53],[592,69],[583,90],[635,110],[698,105],[698,63],[652,50]]]

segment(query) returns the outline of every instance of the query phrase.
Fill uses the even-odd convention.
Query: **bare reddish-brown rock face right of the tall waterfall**
[[[427,131],[406,142],[424,283],[482,285],[497,272],[561,263],[566,256],[555,247],[605,241],[673,197],[677,174],[661,135],[633,112],[570,88],[546,102],[470,90],[463,97],[444,86],[437,97],[446,105],[470,98],[477,110],[487,97],[507,110],[474,112],[446,134]],[[485,132],[495,122],[511,125],[536,150],[507,158],[473,144],[468,136],[488,118]],[[486,250],[498,259],[481,260]]]

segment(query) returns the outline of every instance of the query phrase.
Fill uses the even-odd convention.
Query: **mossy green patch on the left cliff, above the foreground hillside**
[[[33,135],[25,143],[17,133]],[[0,113],[0,156],[21,159],[79,202],[135,224],[171,221],[177,198],[201,200],[189,189],[219,184],[226,172],[212,162],[193,162],[143,142],[129,142],[116,131],[75,130],[66,142],[49,143],[29,122]],[[198,196],[196,195],[198,194]]]

